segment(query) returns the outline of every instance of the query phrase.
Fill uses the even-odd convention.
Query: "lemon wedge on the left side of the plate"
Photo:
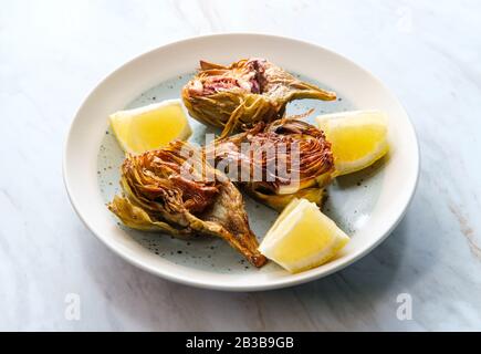
[[[119,111],[109,118],[121,147],[132,154],[159,148],[175,139],[186,140],[192,134],[180,100]]]

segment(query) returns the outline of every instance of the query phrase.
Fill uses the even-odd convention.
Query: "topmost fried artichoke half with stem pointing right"
[[[221,137],[242,125],[281,118],[287,103],[297,98],[332,101],[336,94],[257,58],[229,66],[200,61],[199,72],[182,88],[189,114],[203,124],[221,127]]]

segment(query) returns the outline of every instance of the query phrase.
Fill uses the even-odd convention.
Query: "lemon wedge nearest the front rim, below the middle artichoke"
[[[265,235],[259,251],[292,273],[333,259],[349,237],[314,202],[294,199]]]

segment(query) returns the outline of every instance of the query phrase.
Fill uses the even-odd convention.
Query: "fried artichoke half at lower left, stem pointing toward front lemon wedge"
[[[242,195],[189,144],[177,140],[127,156],[121,185],[123,195],[107,207],[126,226],[175,237],[220,237],[255,267],[266,262],[249,228]]]

